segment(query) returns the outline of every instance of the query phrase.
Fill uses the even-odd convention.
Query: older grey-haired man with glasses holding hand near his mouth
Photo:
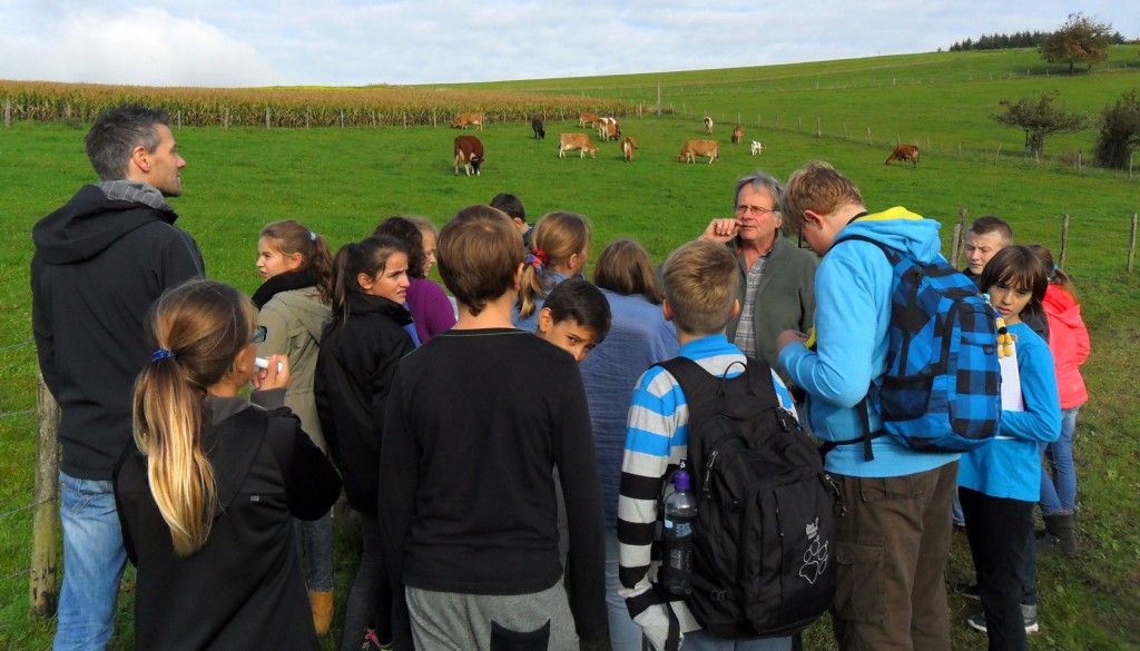
[[[776,337],[789,328],[812,327],[819,260],[784,236],[783,194],[783,184],[760,170],[736,179],[735,217],[714,219],[700,239],[726,244],[740,260],[740,311],[728,322],[730,341],[744,355],[766,361],[787,382]]]

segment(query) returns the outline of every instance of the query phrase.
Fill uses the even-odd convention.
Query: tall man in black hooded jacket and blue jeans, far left
[[[32,229],[32,332],[59,402],[64,580],[55,649],[104,649],[127,562],[112,472],[131,440],[131,388],[150,360],[144,323],[163,291],[204,276],[165,197],[182,194],[164,111],[113,108],[87,135],[101,182]],[[177,351],[176,351],[177,355]]]

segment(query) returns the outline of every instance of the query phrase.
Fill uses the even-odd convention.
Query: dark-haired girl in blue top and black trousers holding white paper
[[[982,287],[1003,320],[1001,423],[993,441],[961,456],[958,486],[983,610],[967,624],[986,632],[991,651],[1025,650],[1026,634],[1037,630],[1033,507],[1041,497],[1039,446],[1057,440],[1061,415],[1049,344],[1025,320],[1041,314],[1050,270],[1032,249],[1008,246],[982,271]],[[1013,391],[1007,391],[1013,382]]]

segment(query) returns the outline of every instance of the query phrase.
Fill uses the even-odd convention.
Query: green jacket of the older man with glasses
[[[728,247],[740,251],[740,242],[732,241]],[[744,288],[748,280],[748,267],[744,257],[740,260],[740,286],[736,298],[741,309],[744,308]],[[756,327],[756,352],[788,382],[788,374],[780,367],[776,356],[776,337],[785,329],[808,332],[815,314],[815,294],[812,286],[815,280],[815,268],[819,259],[808,249],[799,249],[782,233],[776,231],[776,239],[768,252],[768,261],[764,266],[764,276],[756,294],[756,306],[752,316]],[[728,322],[728,341],[736,337],[738,315]]]

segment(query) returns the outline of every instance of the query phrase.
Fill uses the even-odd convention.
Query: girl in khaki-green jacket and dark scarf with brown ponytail
[[[320,332],[329,319],[333,260],[325,238],[292,220],[275,221],[258,236],[258,272],[266,282],[253,294],[258,325],[264,326],[261,350],[288,357],[292,379],[285,405],[323,451],[325,437],[312,397]],[[333,621],[332,512],[311,522],[298,520],[298,546],[304,565],[317,635]]]

